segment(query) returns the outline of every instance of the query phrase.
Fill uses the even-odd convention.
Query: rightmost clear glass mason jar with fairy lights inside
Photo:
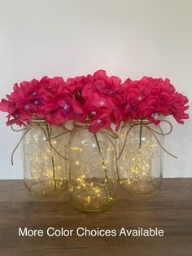
[[[151,196],[163,179],[163,130],[149,121],[133,121],[132,126],[123,126],[118,141],[120,187],[136,196]]]

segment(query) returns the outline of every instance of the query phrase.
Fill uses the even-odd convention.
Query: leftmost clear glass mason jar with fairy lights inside
[[[47,140],[50,134],[54,138],[61,133],[62,127],[50,126],[44,120],[31,121],[28,132],[23,132],[24,183],[33,196],[55,195],[67,188],[67,164],[63,158],[68,148],[67,137]]]

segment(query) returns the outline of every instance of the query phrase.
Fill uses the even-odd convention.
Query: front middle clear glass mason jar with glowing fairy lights
[[[108,139],[105,133],[93,134],[82,128],[72,131],[68,189],[79,210],[106,210],[115,201],[116,139]]]

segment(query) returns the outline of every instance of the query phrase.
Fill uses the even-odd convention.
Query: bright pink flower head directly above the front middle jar
[[[92,126],[107,129],[111,121],[118,124],[120,111],[120,78],[107,77],[104,70],[98,70],[93,76],[86,77],[86,83],[82,88],[82,96],[85,99],[85,113],[90,118],[90,130]],[[102,120],[102,121],[101,121]],[[101,121],[99,124],[97,121]]]

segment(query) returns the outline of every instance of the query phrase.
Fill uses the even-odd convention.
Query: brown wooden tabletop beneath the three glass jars
[[[158,227],[164,236],[18,236],[19,227],[132,229]],[[76,210],[68,193],[37,199],[22,180],[0,181],[0,255],[192,255],[192,179],[164,179],[161,191],[148,198],[117,193],[111,209]]]

